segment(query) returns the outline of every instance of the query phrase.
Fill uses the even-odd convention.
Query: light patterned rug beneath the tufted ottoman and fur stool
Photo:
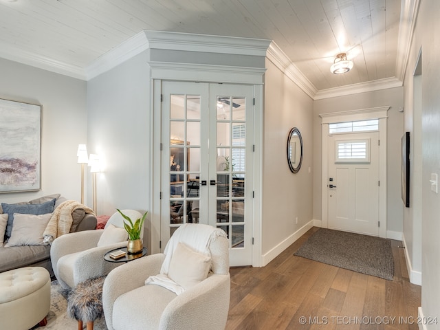
[[[86,329],[83,324],[83,329]],[[50,283],[50,311],[47,314],[47,325],[45,327],[34,327],[38,330],[64,330],[78,329],[78,322],[67,315],[67,292],[58,281]],[[104,318],[94,322],[94,330],[107,330]]]

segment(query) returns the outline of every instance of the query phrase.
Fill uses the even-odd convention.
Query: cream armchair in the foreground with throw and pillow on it
[[[180,250],[182,245],[184,250]],[[181,258],[182,252],[191,255]],[[204,276],[207,277],[188,284],[195,279],[192,270],[197,269],[193,257],[206,259],[203,262],[208,264]],[[150,276],[171,280],[177,277],[174,280],[179,283],[177,287],[184,290],[176,294],[160,283],[148,282]],[[192,278],[188,281],[181,278],[184,276]],[[221,330],[225,329],[228,319],[229,302],[228,239],[223,230],[196,223],[181,225],[163,254],[145,256],[112,270],[102,292],[109,330]]]

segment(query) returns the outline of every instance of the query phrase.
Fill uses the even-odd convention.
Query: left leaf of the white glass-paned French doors
[[[164,83],[162,164],[170,166],[162,176],[164,243],[183,223],[207,223],[208,190],[201,189],[201,177],[207,177],[208,172],[208,141],[201,138],[203,127],[208,126],[207,98],[203,84]]]

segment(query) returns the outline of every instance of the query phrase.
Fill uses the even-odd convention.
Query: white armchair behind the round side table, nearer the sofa
[[[142,217],[135,210],[122,210],[131,219]],[[141,237],[144,233],[142,227]],[[59,236],[50,248],[50,259],[54,274],[60,285],[74,288],[89,278],[109,274],[120,263],[104,261],[104,254],[115,248],[126,246],[128,234],[124,229],[124,219],[115,212],[104,229],[73,232]]]

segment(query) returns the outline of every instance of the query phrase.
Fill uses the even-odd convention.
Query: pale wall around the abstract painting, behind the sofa
[[[79,201],[76,151],[78,144],[87,142],[86,82],[3,58],[0,72],[0,98],[42,105],[41,190],[3,193],[0,201],[15,203],[54,193]]]

